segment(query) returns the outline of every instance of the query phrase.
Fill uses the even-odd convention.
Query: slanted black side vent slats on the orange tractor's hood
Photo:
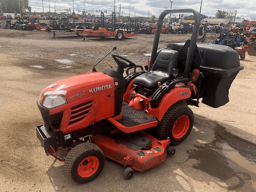
[[[92,106],[94,103],[95,102],[93,101],[87,101],[85,103],[72,107],[71,113],[70,113],[69,125],[76,123],[78,121],[81,121],[82,119],[85,118],[85,116],[89,115],[90,109],[94,108]]]

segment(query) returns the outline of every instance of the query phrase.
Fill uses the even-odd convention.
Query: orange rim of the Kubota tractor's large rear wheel
[[[180,116],[172,127],[172,135],[174,138],[179,139],[183,137],[189,128],[190,120],[187,115]]]

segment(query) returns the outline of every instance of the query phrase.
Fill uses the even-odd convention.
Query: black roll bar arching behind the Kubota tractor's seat
[[[195,47],[196,47],[196,42],[197,42],[197,34],[198,34],[198,30],[199,30],[199,27],[200,27],[200,20],[201,20],[199,13],[194,9],[165,10],[159,15],[158,20],[157,20],[157,25],[156,25],[155,39],[154,39],[154,44],[153,44],[153,49],[152,49],[151,62],[150,62],[149,70],[151,70],[152,64],[156,60],[156,52],[157,52],[157,49],[158,49],[159,37],[160,37],[161,26],[162,26],[162,20],[169,13],[193,13],[194,16],[195,16],[195,25],[194,25],[193,33],[192,33],[192,36],[191,36],[191,41],[190,41],[190,45],[189,45],[189,49],[188,49],[188,53],[187,53],[185,71],[184,71],[184,74],[183,74],[184,78],[189,77],[189,72],[190,72],[190,69],[191,69],[191,64],[192,64],[194,51],[195,51]]]

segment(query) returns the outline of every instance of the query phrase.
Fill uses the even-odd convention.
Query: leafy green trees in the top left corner
[[[29,12],[31,12],[31,7],[28,5],[29,0],[0,0],[0,9],[4,13],[20,13],[22,12],[22,6]],[[19,2],[20,2],[20,9],[19,9]]]

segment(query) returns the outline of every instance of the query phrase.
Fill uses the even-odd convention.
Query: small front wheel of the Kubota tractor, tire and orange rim
[[[93,143],[81,143],[70,150],[65,159],[66,173],[77,183],[94,180],[105,165],[102,150]]]

